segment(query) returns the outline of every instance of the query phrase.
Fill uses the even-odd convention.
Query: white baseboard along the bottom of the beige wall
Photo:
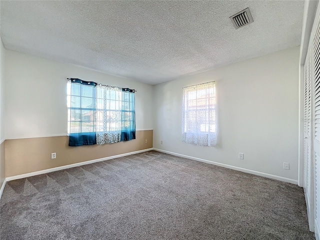
[[[20,175],[8,176],[8,177],[5,177],[5,181],[11,181],[11,180],[15,180],[15,179],[24,178],[24,177],[44,174],[44,173],[48,173],[48,172],[52,172],[52,171],[63,170],[63,169],[67,169],[67,168],[71,168],[71,167],[75,167],[75,166],[82,166],[82,165],[90,164],[93,162],[104,161],[104,160],[108,160],[108,159],[132,155],[132,154],[136,154],[136,153],[140,153],[140,152],[144,152],[144,151],[150,151],[150,150],[153,150],[153,147],[143,149],[143,150],[138,150],[138,151],[131,151],[131,152],[123,153],[123,154],[113,155],[113,156],[102,157],[102,158],[93,159],[93,160],[89,160],[89,161],[77,162],[77,163],[68,164],[68,165],[64,165],[64,166],[57,166],[57,167],[48,168],[48,169],[44,169],[44,170],[40,170],[40,171],[32,171],[32,172],[24,173],[24,174],[20,174]]]

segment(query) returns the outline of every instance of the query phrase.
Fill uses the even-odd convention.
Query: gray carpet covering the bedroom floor
[[[6,183],[5,239],[314,239],[302,188],[157,151]]]

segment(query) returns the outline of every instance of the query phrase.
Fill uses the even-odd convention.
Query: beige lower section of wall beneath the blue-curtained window
[[[151,148],[152,138],[153,130],[140,130],[134,140],[103,145],[68,146],[68,136],[5,140],[5,176]],[[56,152],[55,159],[51,152]]]

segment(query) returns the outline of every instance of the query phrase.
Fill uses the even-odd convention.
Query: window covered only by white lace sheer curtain
[[[183,88],[182,141],[206,146],[215,145],[214,81]]]

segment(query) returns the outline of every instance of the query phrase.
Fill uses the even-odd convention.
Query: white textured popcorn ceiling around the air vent
[[[249,7],[254,22],[229,16]],[[156,84],[300,44],[303,1],[0,1],[7,49]]]

